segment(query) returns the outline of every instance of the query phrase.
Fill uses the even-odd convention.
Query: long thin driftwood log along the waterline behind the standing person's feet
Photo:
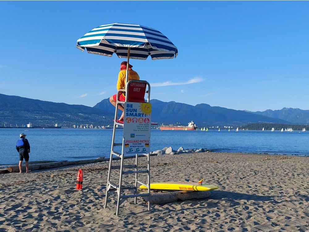
[[[156,156],[157,154],[150,154],[150,156]],[[138,157],[144,157],[143,155],[139,155]],[[135,158],[134,156],[125,156],[125,159]],[[120,157],[113,157],[113,160],[120,160]],[[108,161],[109,158],[98,158],[92,160],[77,160],[77,161],[60,161],[60,162],[53,162],[53,163],[42,163],[42,164],[29,164],[30,170],[39,170],[39,169],[50,169],[50,168],[58,168],[63,166],[70,166],[70,165],[78,165],[78,164],[90,164],[90,163],[98,163],[103,161]],[[19,172],[18,166],[8,167],[7,170],[9,172]],[[26,166],[22,166],[22,171],[26,171]]]

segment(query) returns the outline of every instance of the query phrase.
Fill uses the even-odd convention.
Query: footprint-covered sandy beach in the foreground
[[[140,158],[140,166],[146,158]],[[125,163],[133,163],[132,159]],[[115,161],[115,164],[119,161]],[[309,231],[309,157],[192,153],[151,157],[151,181],[219,186],[211,197],[104,209],[108,162],[0,174],[0,231]],[[76,175],[83,169],[83,189]],[[119,170],[118,170],[119,171]],[[117,170],[114,179],[118,179]],[[133,175],[124,177],[132,183]]]

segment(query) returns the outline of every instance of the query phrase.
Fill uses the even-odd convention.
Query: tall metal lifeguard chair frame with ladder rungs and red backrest
[[[141,87],[139,91],[136,91],[134,88],[137,83],[144,83],[144,87]],[[140,84],[138,84],[140,86]],[[148,85],[148,90],[146,91],[146,86]],[[119,95],[125,92],[125,102],[119,101]],[[144,97],[145,93],[148,94],[147,103],[150,101],[150,84],[144,80],[130,80],[126,84],[125,90],[120,89],[117,93],[116,98],[116,110],[115,110],[115,118],[114,118],[114,127],[113,127],[113,135],[112,135],[112,147],[111,147],[111,154],[109,159],[109,167],[108,167],[108,177],[107,177],[107,185],[106,185],[106,196],[105,196],[105,204],[104,208],[107,207],[107,200],[110,195],[112,195],[115,191],[118,194],[117,199],[117,209],[116,215],[119,214],[119,207],[120,205],[128,198],[134,197],[134,204],[137,203],[137,197],[148,196],[148,211],[150,211],[150,154],[142,154],[142,156],[147,157],[147,170],[139,170],[138,169],[138,154],[135,154],[135,164],[132,165],[124,165],[124,151],[125,151],[125,143],[124,143],[124,136],[122,138],[122,143],[115,143],[115,133],[116,133],[116,125],[117,126],[124,126],[123,122],[117,120],[118,115],[118,105],[125,104],[129,102],[145,102]],[[133,132],[133,131],[132,131]],[[118,153],[114,150],[115,146],[122,146],[121,153]],[[113,166],[113,155],[121,158],[121,165]],[[120,175],[119,175],[119,183],[116,184],[115,182],[111,181],[111,170],[112,169],[119,169],[120,168]],[[124,170],[124,168],[134,169],[134,170]],[[147,184],[143,183],[138,179],[139,173],[147,173]],[[123,174],[135,174],[135,185],[133,186],[122,186],[122,175]],[[138,184],[144,185],[148,188],[147,193],[138,193]],[[123,194],[123,191],[129,190],[131,194]]]

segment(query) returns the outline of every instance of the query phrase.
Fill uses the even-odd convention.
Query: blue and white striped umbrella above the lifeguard
[[[101,25],[77,40],[76,47],[88,53],[119,58],[153,60],[176,58],[176,46],[161,32],[138,24]],[[128,49],[130,48],[130,49]],[[129,57],[128,57],[129,55]]]

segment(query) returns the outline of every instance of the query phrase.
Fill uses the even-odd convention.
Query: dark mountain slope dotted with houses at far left
[[[69,105],[25,97],[0,94],[0,125],[21,127],[31,122],[34,126],[72,127],[73,124],[105,125],[114,113],[85,105]]]

